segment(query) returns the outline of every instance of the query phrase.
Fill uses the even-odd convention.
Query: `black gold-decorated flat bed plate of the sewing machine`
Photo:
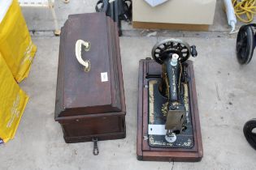
[[[167,112],[167,98],[163,97],[158,86],[161,83],[161,78],[149,79],[149,125],[161,125],[164,130],[165,118],[163,112]],[[189,105],[189,104],[188,104]],[[166,109],[165,109],[166,108]],[[164,111],[166,110],[166,111]],[[163,135],[149,134],[150,147],[163,147],[163,148],[192,148],[193,147],[193,126],[191,122],[191,109],[188,109],[187,123],[185,129],[176,134],[175,142],[168,142]],[[151,127],[152,130],[152,127]],[[157,130],[155,130],[157,131]],[[159,131],[159,130],[158,130]]]

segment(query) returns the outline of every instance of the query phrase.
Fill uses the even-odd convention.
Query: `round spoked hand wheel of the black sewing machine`
[[[154,45],[151,52],[155,62],[159,64],[163,64],[163,61],[170,53],[177,53],[180,62],[185,62],[190,56],[191,49],[189,44],[183,40],[167,39]]]

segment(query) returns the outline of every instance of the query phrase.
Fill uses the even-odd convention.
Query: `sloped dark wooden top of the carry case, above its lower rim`
[[[118,33],[104,13],[69,15],[62,28],[55,118],[94,113],[125,113]],[[76,59],[76,40],[89,41],[81,56],[90,62],[89,72]],[[102,76],[106,76],[102,78]],[[121,84],[119,83],[121,80]],[[123,88],[120,91],[120,87]],[[124,94],[123,94],[124,95]]]

